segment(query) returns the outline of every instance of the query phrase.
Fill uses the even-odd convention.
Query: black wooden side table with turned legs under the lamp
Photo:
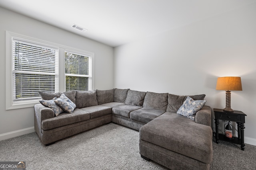
[[[228,112],[223,111],[223,109],[213,109],[214,116],[215,116],[215,127],[216,127],[216,133],[215,133],[215,139],[216,143],[219,143],[219,139],[222,141],[228,141],[231,143],[236,143],[238,145],[241,145],[241,149],[244,150],[244,123],[245,123],[245,116],[242,111],[236,111],[234,112]],[[226,120],[226,121],[235,121],[237,124],[237,130],[238,130],[238,137],[234,137],[234,139],[228,139],[224,134],[219,134],[219,119],[220,120]]]

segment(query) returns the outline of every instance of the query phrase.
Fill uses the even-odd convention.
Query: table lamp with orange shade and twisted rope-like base
[[[242,91],[241,77],[218,77],[216,90],[225,90],[226,91],[226,108],[224,111],[233,112],[231,109],[231,91],[240,90]]]

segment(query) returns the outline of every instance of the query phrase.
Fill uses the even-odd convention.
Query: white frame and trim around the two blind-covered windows
[[[90,55],[92,57],[92,87],[91,89],[94,90],[94,53],[83,51],[80,49],[75,49],[72,47],[60,45],[57,43],[51,43],[48,41],[44,41],[41,39],[36,39],[33,37],[29,37],[26,35],[21,35],[18,33],[13,33],[10,31],[6,31],[6,110],[9,109],[19,109],[19,108],[26,108],[26,107],[34,107],[35,104],[39,103],[39,100],[28,100],[22,102],[13,102],[12,98],[12,39],[17,39],[20,41],[25,41],[28,43],[34,43],[38,45],[43,45],[51,48],[58,48],[59,49],[59,81],[58,81],[58,89],[59,92],[65,91],[65,50],[69,49],[71,51],[77,51],[80,53],[84,53]]]

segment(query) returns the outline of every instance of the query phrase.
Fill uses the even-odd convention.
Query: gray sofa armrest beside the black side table
[[[204,106],[201,110],[196,113],[195,117],[196,123],[200,123],[202,125],[211,126],[211,107]]]

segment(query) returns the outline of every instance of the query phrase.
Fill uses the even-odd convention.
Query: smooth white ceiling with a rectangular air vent
[[[117,47],[256,0],[0,0],[0,6]],[[88,29],[80,31],[76,24]]]

